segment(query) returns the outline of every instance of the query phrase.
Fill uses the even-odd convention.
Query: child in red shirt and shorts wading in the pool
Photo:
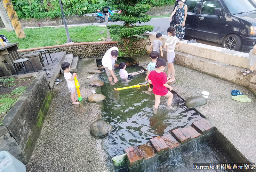
[[[172,109],[172,98],[173,94],[167,90],[169,88],[172,90],[172,87],[168,85],[166,73],[163,72],[164,67],[166,66],[166,61],[164,59],[157,59],[156,70],[150,72],[148,76],[148,82],[153,84],[153,93],[155,94],[156,102],[154,105],[154,114],[157,113],[158,106],[160,104],[161,96],[168,97],[167,108]]]

